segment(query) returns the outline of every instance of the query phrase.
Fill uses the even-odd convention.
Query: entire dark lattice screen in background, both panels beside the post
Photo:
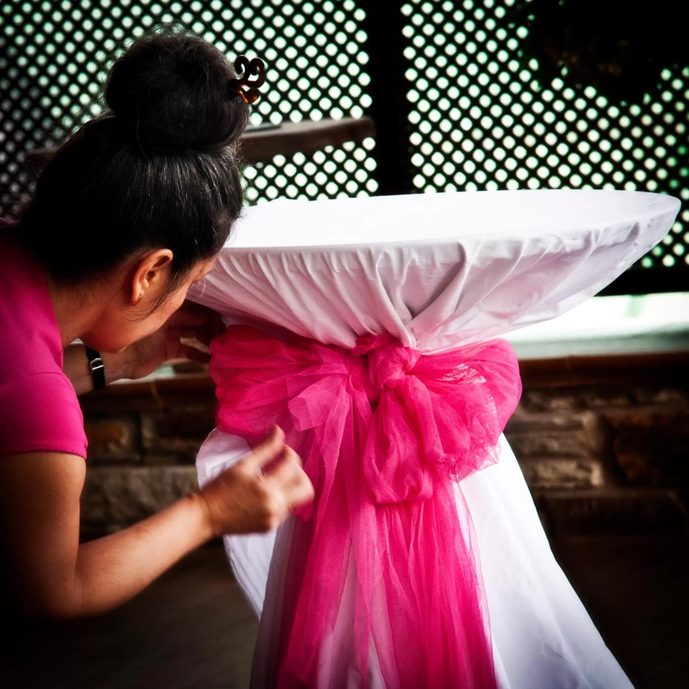
[[[369,0],[376,1],[376,0]],[[654,99],[610,105],[593,88],[539,88],[518,60],[513,0],[408,0],[409,142],[418,190],[615,187],[689,198],[689,71]],[[119,45],[178,21],[234,57],[262,56],[269,88],[251,122],[360,116],[371,102],[364,0],[10,0],[0,5],[0,212],[21,191],[23,152],[100,112]],[[398,7],[389,3],[391,12]],[[520,31],[522,34],[520,34]],[[372,37],[385,40],[384,36]],[[533,65],[531,65],[533,66]],[[265,87],[264,87],[265,89]],[[276,156],[247,169],[252,202],[376,192],[373,141]],[[411,191],[411,189],[410,189]],[[689,263],[689,210],[642,265]]]

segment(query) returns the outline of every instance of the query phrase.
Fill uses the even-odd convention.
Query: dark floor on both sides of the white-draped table
[[[571,537],[553,547],[637,689],[685,688],[689,540]],[[5,630],[2,687],[228,689],[248,684],[256,620],[222,548],[207,546],[114,613]]]

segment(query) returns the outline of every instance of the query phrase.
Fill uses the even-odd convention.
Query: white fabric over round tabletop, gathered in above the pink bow
[[[424,353],[548,320],[661,240],[644,192],[464,192],[276,200],[247,209],[190,298],[342,347],[389,332]]]

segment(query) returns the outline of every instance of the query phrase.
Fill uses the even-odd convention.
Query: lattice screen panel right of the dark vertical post
[[[513,0],[404,3],[413,183],[424,191],[594,187],[689,198],[689,70],[665,70],[644,103],[616,107],[519,61]],[[533,68],[535,65],[531,65]],[[689,263],[689,210],[644,267]]]

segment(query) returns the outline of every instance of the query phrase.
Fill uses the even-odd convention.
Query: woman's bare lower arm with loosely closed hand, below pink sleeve
[[[263,467],[270,465],[268,473]],[[223,533],[268,531],[313,498],[298,456],[274,427],[254,453],[202,491],[130,528],[79,544],[81,457],[0,458],[0,537],[19,599],[69,619],[110,610],[181,557]]]

